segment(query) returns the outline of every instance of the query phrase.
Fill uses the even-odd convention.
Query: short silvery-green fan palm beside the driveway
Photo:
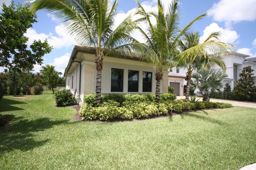
[[[221,70],[201,69],[192,74],[191,86],[198,88],[203,94],[203,101],[210,100],[211,91],[220,90],[223,87],[222,81],[228,77]]]

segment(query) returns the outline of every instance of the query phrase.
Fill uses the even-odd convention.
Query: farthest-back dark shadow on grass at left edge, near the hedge
[[[27,103],[18,101],[18,100],[2,98],[0,100],[0,112],[22,111],[23,108],[12,106],[12,105],[18,105],[18,104],[27,104]]]

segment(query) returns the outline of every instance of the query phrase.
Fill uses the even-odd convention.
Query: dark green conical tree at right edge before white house
[[[236,100],[253,101],[256,99],[256,86],[252,77],[253,71],[251,66],[247,66],[239,74],[240,79],[237,81],[233,91]]]

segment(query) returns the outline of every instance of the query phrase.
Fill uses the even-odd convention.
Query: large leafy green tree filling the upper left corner
[[[36,21],[36,14],[23,5],[9,6],[3,3],[0,12],[0,66],[14,67],[17,71],[32,70],[34,64],[42,64],[43,56],[51,52],[47,40],[34,41],[28,48],[28,37],[24,36],[27,29]]]

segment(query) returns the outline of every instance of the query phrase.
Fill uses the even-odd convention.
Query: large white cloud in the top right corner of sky
[[[255,0],[220,0],[214,3],[210,9],[210,16],[215,21],[224,21],[226,25],[240,21],[256,20],[256,1]]]

